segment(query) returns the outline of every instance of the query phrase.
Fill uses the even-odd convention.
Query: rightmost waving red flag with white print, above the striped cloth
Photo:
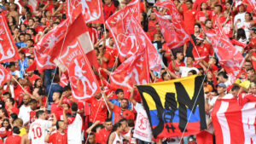
[[[212,43],[212,48],[218,57],[220,65],[223,66],[225,71],[230,73],[233,78],[236,78],[241,71],[244,58],[238,49],[230,42],[229,37],[224,34],[219,20],[217,20],[217,24],[216,33],[207,32],[207,30],[204,30],[204,32],[207,34],[208,41]]]

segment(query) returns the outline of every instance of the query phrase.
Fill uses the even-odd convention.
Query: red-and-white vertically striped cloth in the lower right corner
[[[218,144],[256,143],[256,102],[240,106],[236,99],[217,100],[212,124]]]

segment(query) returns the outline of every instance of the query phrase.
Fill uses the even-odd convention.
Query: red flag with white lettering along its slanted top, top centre
[[[106,20],[106,26],[113,36],[121,61],[137,52],[138,43],[131,27],[131,18],[140,21],[139,8],[139,0],[133,0]]]

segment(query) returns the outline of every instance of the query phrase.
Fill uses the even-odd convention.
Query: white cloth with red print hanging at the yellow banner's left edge
[[[136,103],[134,107],[137,111],[137,121],[135,124],[135,129],[133,137],[140,139],[142,141],[152,141],[152,130],[148,120],[147,112],[145,111],[143,105]]]

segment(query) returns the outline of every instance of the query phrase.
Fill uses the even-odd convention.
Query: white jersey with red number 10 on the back
[[[36,119],[29,128],[28,139],[32,140],[32,144],[45,144],[44,138],[51,126],[51,121]]]

